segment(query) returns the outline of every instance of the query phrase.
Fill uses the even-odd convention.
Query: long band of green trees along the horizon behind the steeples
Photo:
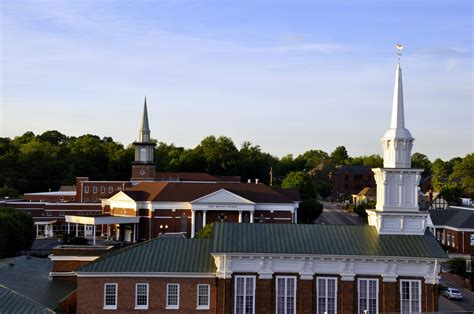
[[[50,130],[0,138],[0,197],[54,191],[74,184],[77,176],[128,180],[133,158],[133,145],[125,147],[111,137],[93,134],[74,137]],[[426,155],[414,153],[412,165],[425,169],[424,175],[432,175],[435,189],[455,199],[474,196],[473,159],[469,154],[431,163]],[[226,136],[207,136],[194,148],[157,142],[155,162],[160,172],[239,175],[243,181],[259,179],[273,186],[295,187],[303,199],[331,195],[330,174],[338,165],[383,166],[380,155],[349,156],[344,146],[337,146],[330,154],[313,148],[298,156],[278,158],[248,141],[239,147]]]

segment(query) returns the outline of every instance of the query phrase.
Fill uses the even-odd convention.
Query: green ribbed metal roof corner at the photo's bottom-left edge
[[[46,306],[0,285],[0,313],[54,313]]]

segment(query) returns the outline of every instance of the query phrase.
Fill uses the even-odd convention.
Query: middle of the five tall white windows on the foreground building
[[[317,277],[316,291],[316,308],[318,314],[337,313],[337,278]]]

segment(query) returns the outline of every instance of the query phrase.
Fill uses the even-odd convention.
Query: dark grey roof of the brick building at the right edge
[[[474,229],[474,210],[448,207],[430,210],[429,213],[435,226]]]

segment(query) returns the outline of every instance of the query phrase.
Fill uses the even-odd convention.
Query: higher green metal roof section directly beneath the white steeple
[[[448,258],[429,231],[379,235],[367,225],[218,223],[211,252]]]

